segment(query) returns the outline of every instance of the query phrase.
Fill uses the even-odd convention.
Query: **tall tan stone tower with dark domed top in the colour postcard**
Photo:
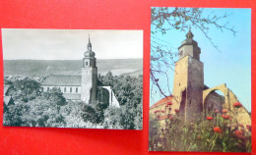
[[[189,29],[186,39],[178,47],[179,60],[175,63],[173,100],[179,105],[185,121],[193,121],[203,110],[204,64],[200,61],[201,49],[193,40]]]

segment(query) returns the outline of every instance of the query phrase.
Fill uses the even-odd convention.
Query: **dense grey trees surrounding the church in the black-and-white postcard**
[[[41,92],[39,83],[29,78],[9,82],[13,84],[9,92],[16,104],[4,109],[4,125],[142,129],[142,77],[113,77],[109,72],[99,79],[115,87],[120,108],[107,107],[107,104],[97,101],[93,104],[66,101],[60,89]]]

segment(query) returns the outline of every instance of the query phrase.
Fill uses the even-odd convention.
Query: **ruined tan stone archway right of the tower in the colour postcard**
[[[251,117],[248,113],[248,111],[244,108],[241,107],[239,109],[234,108],[232,105],[235,102],[239,102],[235,94],[226,87],[226,84],[221,84],[213,88],[209,88],[203,91],[203,109],[205,110],[205,101],[208,95],[215,91],[215,90],[220,90],[224,93],[224,104],[223,108],[227,109],[228,111],[232,112],[233,117],[236,118],[238,124],[241,125],[251,125]]]

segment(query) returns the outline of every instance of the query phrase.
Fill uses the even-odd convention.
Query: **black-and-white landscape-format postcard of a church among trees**
[[[142,129],[143,30],[2,28],[4,126]]]

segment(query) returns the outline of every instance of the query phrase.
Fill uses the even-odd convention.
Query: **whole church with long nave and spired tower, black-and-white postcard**
[[[88,50],[84,53],[81,75],[50,75],[42,82],[43,91],[53,87],[61,90],[67,100],[82,101],[92,104],[96,101],[109,106],[119,107],[111,86],[103,85],[97,79],[96,53],[92,50],[89,37]]]

